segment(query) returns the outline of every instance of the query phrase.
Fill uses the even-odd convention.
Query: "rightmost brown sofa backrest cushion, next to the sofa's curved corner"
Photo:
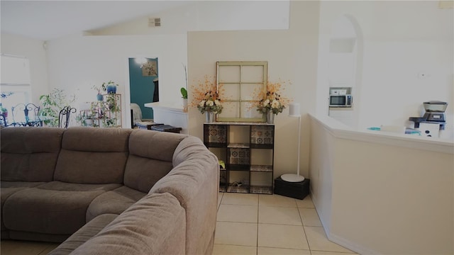
[[[129,137],[129,157],[124,185],[148,193],[172,170],[175,149],[187,135],[153,130],[134,130]]]

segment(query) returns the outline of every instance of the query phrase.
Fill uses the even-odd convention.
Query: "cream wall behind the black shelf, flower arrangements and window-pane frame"
[[[309,173],[309,120],[315,111],[317,17],[316,1],[292,1],[289,30],[190,32],[189,84],[216,75],[216,61],[267,61],[270,81],[291,81],[285,94],[301,105],[301,174]],[[192,91],[189,90],[189,101]],[[252,110],[255,111],[255,110]],[[189,109],[189,134],[203,138],[204,115]],[[288,109],[275,117],[275,177],[297,171],[298,119]]]

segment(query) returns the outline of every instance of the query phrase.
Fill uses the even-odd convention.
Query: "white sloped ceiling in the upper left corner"
[[[0,1],[1,33],[50,40],[130,21],[193,1]]]

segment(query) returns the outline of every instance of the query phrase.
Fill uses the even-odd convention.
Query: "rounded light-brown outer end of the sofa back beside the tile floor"
[[[174,166],[150,193],[171,193],[186,210],[186,254],[211,254],[218,204],[218,159],[198,138],[187,137],[175,150]]]

